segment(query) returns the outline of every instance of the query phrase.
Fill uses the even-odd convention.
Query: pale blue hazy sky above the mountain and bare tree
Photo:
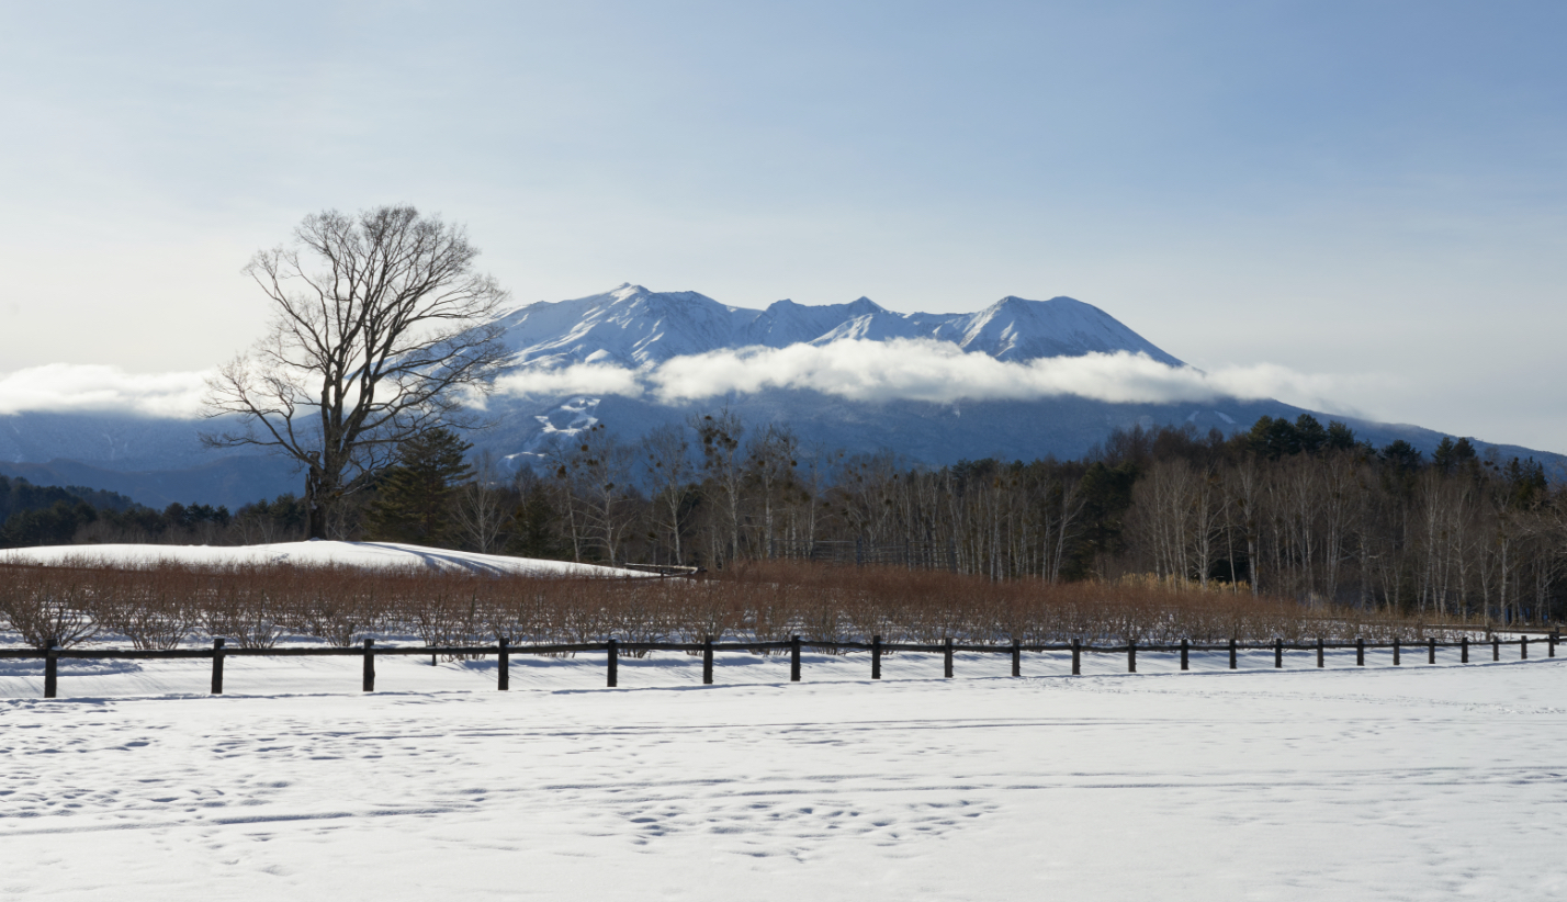
[[[309,211],[519,302],[1070,294],[1203,368],[1567,451],[1564,3],[13,3],[0,373],[202,370]]]

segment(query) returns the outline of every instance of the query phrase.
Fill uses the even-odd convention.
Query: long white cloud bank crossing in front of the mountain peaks
[[[1283,366],[1230,366],[1205,373],[1124,351],[1009,363],[925,338],[713,351],[641,370],[581,363],[517,373],[498,385],[501,393],[519,396],[624,395],[664,402],[769,388],[809,388],[854,401],[1022,401],[1077,395],[1122,404],[1161,404],[1219,396],[1310,398],[1330,385],[1327,377]]]

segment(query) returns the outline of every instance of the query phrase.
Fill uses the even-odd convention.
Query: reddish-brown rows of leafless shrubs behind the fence
[[[903,568],[758,562],[704,579],[583,579],[243,565],[138,570],[0,567],[0,617],[28,645],[88,639],[174,648],[221,636],[244,648],[285,637],[346,647],[365,636],[464,645],[812,640],[1142,644],[1424,639],[1431,626],[1156,584],[989,581]]]

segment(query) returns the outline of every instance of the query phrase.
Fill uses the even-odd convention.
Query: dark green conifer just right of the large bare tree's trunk
[[[398,445],[396,465],[382,476],[370,506],[371,537],[450,545],[454,489],[473,476],[465,460],[469,448],[450,429],[431,429]]]

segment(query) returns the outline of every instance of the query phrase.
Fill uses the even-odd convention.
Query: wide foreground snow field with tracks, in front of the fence
[[[63,661],[0,672],[27,899],[1567,894],[1561,659]],[[1445,655],[1456,659],[1456,655]],[[1423,656],[1420,658],[1423,661]],[[113,666],[110,666],[113,664]],[[165,694],[165,695],[119,695]],[[190,695],[179,695],[188,692]],[[83,695],[86,694],[86,695]]]

